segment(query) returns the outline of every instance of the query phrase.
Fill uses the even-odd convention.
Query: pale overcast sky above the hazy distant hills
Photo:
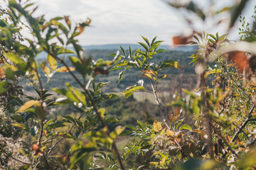
[[[199,0],[198,0],[199,1]],[[233,0],[215,0],[217,8],[231,5]],[[71,21],[78,23],[91,18],[90,28],[80,36],[81,45],[102,45],[112,43],[136,43],[140,35],[146,38],[158,36],[164,44],[171,43],[171,37],[183,33],[188,26],[183,10],[176,10],[161,0],[41,0],[35,1],[38,14],[45,13],[46,18],[70,16]],[[207,1],[199,5],[207,6]],[[256,0],[251,0],[244,10],[250,19]],[[220,16],[225,18],[225,16]],[[225,26],[213,28],[213,21],[207,24],[197,23],[197,28],[206,32],[223,32]],[[223,32],[224,33],[224,32]],[[232,38],[238,29],[233,30]]]

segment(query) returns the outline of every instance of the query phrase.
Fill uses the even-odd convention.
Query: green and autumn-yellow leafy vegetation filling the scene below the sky
[[[0,8],[1,169],[254,169],[255,22],[240,17],[241,40],[230,42],[186,18],[191,35],[173,39],[198,45],[181,54],[191,55],[194,83],[192,67],[182,70],[187,60],[159,48],[161,40],[142,36],[141,49],[91,57],[77,40],[89,18],[47,21],[29,3]],[[193,1],[169,5],[203,23],[230,13],[230,29],[246,3],[211,15]],[[41,52],[46,60],[36,60]]]

